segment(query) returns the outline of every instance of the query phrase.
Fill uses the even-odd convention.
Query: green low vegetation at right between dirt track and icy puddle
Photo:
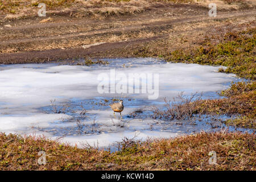
[[[237,33],[230,32],[219,44],[205,43],[207,46],[200,46],[192,50],[173,51],[168,57],[168,61],[223,65],[228,68],[220,69],[220,72],[235,73],[240,77],[255,80],[255,38],[256,28]]]

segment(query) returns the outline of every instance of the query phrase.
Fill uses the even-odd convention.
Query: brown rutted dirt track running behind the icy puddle
[[[220,11],[210,18],[208,9],[195,5],[155,7],[141,14],[103,20],[51,15],[6,21],[0,27],[0,64],[44,63],[77,57],[129,57],[144,47],[164,51],[201,44],[209,35],[255,26],[255,10]],[[10,24],[11,27],[6,27]],[[168,41],[168,42],[167,42]],[[96,46],[82,46],[95,44]],[[97,43],[102,43],[97,45]],[[158,56],[144,55],[144,56]]]

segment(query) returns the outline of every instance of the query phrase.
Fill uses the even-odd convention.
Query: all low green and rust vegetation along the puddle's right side
[[[159,57],[175,63],[224,65],[228,68],[220,69],[220,72],[236,73],[252,81],[232,84],[228,90],[221,93],[226,98],[197,100],[183,105],[170,105],[167,102],[164,110],[154,108],[154,117],[172,120],[189,119],[193,114],[225,114],[235,118],[226,121],[227,125],[256,129],[255,28],[227,32],[221,37],[208,36],[201,46],[190,49],[177,49],[171,53],[156,49],[158,48],[149,51],[144,48],[139,55],[149,55],[152,52],[154,55],[159,53]],[[175,113],[182,113],[183,116],[179,117]]]

